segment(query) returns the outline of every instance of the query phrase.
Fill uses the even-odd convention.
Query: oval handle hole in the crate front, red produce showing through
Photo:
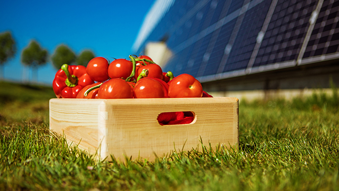
[[[193,111],[163,112],[158,115],[157,120],[162,126],[193,124],[196,121],[196,116]]]

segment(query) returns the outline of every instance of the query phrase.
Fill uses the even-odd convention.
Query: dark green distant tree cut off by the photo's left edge
[[[16,53],[16,45],[11,32],[0,33],[0,79],[4,77],[4,64],[13,58]]]

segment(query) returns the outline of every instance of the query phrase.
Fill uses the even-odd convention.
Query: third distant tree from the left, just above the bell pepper
[[[51,59],[53,66],[59,70],[63,64],[71,65],[75,62],[76,56],[66,45],[60,45],[55,49]]]

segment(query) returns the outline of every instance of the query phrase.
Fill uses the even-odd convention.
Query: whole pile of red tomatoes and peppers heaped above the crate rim
[[[93,58],[87,67],[64,64],[57,71],[53,90],[58,98],[178,98],[212,97],[190,74],[162,72],[148,56],[131,60]]]

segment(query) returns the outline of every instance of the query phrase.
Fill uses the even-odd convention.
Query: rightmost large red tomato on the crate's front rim
[[[183,73],[170,81],[168,97],[201,97],[202,86],[192,75]]]

